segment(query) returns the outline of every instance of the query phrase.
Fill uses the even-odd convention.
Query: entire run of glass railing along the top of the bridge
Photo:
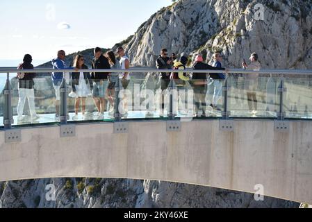
[[[122,81],[116,83],[109,92],[105,89],[106,106],[101,115],[92,99],[93,83],[90,85],[90,94],[85,98],[85,113],[82,114],[79,107],[78,114],[75,114],[75,98],[70,96],[70,74],[73,70],[63,69],[58,70],[65,73],[60,86],[59,116],[56,115],[56,93],[51,81],[53,71],[19,70],[22,73],[36,73],[34,96],[37,117],[31,117],[26,99],[23,116],[18,118],[17,69],[0,68],[1,128],[129,119],[312,119],[312,70],[230,69],[227,72],[217,71],[226,73],[227,78],[213,80],[209,74],[216,71],[186,69],[183,73],[190,80],[163,81],[160,70],[152,68],[89,69],[88,72],[111,74],[129,72],[131,76],[126,89],[122,87]],[[168,74],[173,71],[161,70]],[[194,74],[206,75],[207,78],[194,80]],[[102,81],[97,82],[104,84]]]

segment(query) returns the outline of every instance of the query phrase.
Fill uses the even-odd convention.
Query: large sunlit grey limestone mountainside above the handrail
[[[256,3],[263,5],[263,20]],[[312,3],[181,0],[152,15],[124,46],[133,66],[154,67],[160,50],[167,48],[200,52],[208,62],[220,51],[224,65],[232,68],[255,51],[263,68],[311,69]]]

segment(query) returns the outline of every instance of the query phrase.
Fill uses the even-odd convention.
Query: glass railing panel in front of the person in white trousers
[[[25,74],[27,75],[27,74]],[[36,74],[32,80],[10,81],[13,89],[13,125],[33,125],[39,123],[58,123],[56,115],[56,89],[51,74]]]

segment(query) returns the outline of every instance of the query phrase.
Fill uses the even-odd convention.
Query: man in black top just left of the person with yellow
[[[172,69],[172,60],[168,57],[167,49],[161,49],[161,56],[156,60],[157,69]],[[165,95],[164,90],[167,89],[170,83],[170,73],[162,72],[161,73],[161,116],[163,116],[163,109],[165,108]]]

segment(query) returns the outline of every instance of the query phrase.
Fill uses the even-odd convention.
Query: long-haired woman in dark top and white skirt
[[[77,55],[74,60],[74,69],[88,69],[82,55]],[[72,72],[72,93],[70,96],[75,100],[75,116],[72,120],[78,119],[79,108],[85,118],[85,100],[90,96],[92,90],[91,76],[89,72]]]

